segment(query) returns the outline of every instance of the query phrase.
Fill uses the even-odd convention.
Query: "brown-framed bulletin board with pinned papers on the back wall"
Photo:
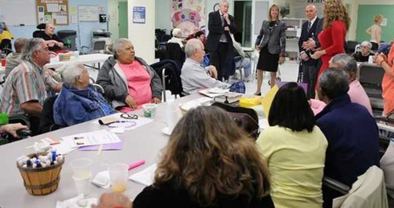
[[[68,0],[36,0],[37,23],[68,25]]]

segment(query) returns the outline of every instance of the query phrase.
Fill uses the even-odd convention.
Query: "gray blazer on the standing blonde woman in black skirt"
[[[274,28],[269,31],[269,21],[264,20],[259,36],[257,36],[256,46],[264,47],[268,44],[270,54],[286,54],[286,23],[277,21]]]

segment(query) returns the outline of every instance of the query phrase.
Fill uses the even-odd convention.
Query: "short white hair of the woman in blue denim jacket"
[[[75,81],[82,75],[84,70],[87,70],[81,63],[68,63],[64,64],[57,71],[60,72],[63,83],[67,86],[74,86]]]

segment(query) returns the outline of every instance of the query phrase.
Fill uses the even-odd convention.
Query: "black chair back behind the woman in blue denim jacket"
[[[58,98],[58,95],[48,97],[44,101],[44,105],[42,106],[42,117],[38,130],[40,134],[62,128],[62,126],[56,124],[53,119],[53,104],[55,103],[56,98]]]

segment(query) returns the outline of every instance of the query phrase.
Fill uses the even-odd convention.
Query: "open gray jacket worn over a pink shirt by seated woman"
[[[159,75],[143,59],[135,57],[135,61],[141,63],[151,77],[152,96],[162,99],[163,87]],[[96,82],[104,89],[105,98],[114,109],[127,106],[124,101],[129,94],[126,76],[116,63],[114,57],[109,57],[100,68]]]

